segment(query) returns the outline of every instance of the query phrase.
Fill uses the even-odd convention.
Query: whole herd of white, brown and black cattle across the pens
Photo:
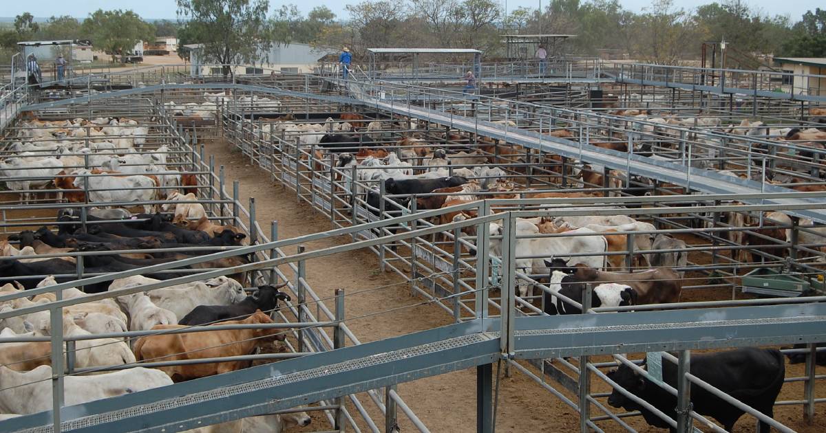
[[[278,104],[278,101],[257,96],[244,97],[237,101],[250,109]],[[225,103],[225,98],[224,94],[219,93],[207,96],[207,102],[197,106],[168,103],[167,109],[180,115],[208,119],[215,115],[216,106]],[[429,139],[412,133],[402,138],[396,136],[387,148],[382,148],[378,144],[387,141],[387,121],[371,121],[358,114],[341,115],[340,120],[329,119],[323,125],[300,124],[285,117],[268,123],[258,132],[267,140],[271,134],[278,134],[284,139],[295,140],[303,147],[312,147],[316,158],[335,161],[341,173],[358,167],[354,179],[357,186],[351,193],[361,195],[374,213],[382,199],[379,195],[380,183],[385,194],[390,195],[386,197],[385,206],[390,214],[401,214],[403,209],[441,209],[484,198],[587,198],[604,195],[602,192],[523,190],[515,179],[525,174],[525,168],[518,167],[518,164],[529,161],[525,149],[496,147],[494,140],[484,137],[475,138],[475,144],[471,145],[469,135],[447,134],[443,137],[445,145],[439,146],[430,141],[432,137]],[[131,214],[126,209],[118,208],[92,208],[85,222],[81,221],[78,209],[61,209],[56,218],[56,231],[41,227],[7,237],[0,241],[0,256],[14,258],[0,260],[0,275],[15,280],[2,285],[0,294],[76,280],[74,275],[78,260],[83,261],[84,274],[108,274],[198,257],[214,252],[216,248],[239,247],[244,243],[245,236],[239,228],[216,224],[208,218],[206,209],[197,203],[197,190],[192,188],[197,186],[194,176],[176,174],[176,170],[169,167],[168,148],[161,147],[155,151],[145,149],[149,130],[132,122],[134,120],[111,118],[91,122],[27,121],[25,125],[32,127],[24,129],[31,131],[26,132],[28,139],[13,144],[8,149],[13,154],[0,162],[0,176],[38,179],[7,181],[9,189],[26,195],[22,197],[23,201],[30,200],[28,191],[50,185],[64,190],[60,198],[70,203],[88,200],[106,205],[165,201],[157,209],[145,206],[142,214]],[[407,131],[419,129],[419,125],[420,121],[415,119],[392,122],[392,127]],[[788,131],[787,134],[814,133]],[[554,135],[563,138],[573,136],[564,129]],[[799,135],[787,138],[803,139]],[[826,140],[826,137],[822,139]],[[447,145],[448,142],[452,144]],[[82,144],[86,143],[89,146],[83,147]],[[457,143],[460,145],[455,145]],[[54,153],[55,156],[43,157],[45,153]],[[544,162],[548,162],[550,183],[558,185],[562,183],[560,176],[567,176],[567,181],[578,179],[586,188],[613,186],[619,190],[627,187],[615,182],[615,179],[623,177],[623,173],[614,173],[615,176],[610,176],[610,179],[603,179],[601,167],[574,161],[563,164],[563,158],[553,155],[544,158]],[[495,165],[503,161],[516,166],[506,167],[506,171]],[[89,174],[101,176],[85,176]],[[183,191],[178,191],[178,188]],[[87,193],[85,189],[91,191]],[[601,209],[611,208],[602,206]],[[153,213],[153,210],[156,212]],[[472,211],[445,212],[432,223],[447,224],[475,216]],[[786,219],[790,218],[782,213],[767,214],[766,217],[781,224],[786,224]],[[756,224],[739,213],[726,215],[724,221],[734,227]],[[488,251],[501,257],[502,226],[491,223],[489,228],[491,238],[487,240]],[[472,235],[475,234],[474,229],[471,226],[465,228],[465,232]],[[787,230],[777,230],[777,233],[763,230],[766,230],[765,233],[760,233],[764,236],[783,242],[790,237]],[[518,219],[516,256],[539,258],[518,259],[516,267],[525,274],[543,275],[537,280],[549,289],[542,291],[544,312],[548,314],[582,313],[570,301],[582,303],[586,284],[593,287],[591,307],[678,302],[684,278],[681,268],[688,264],[688,252],[681,250],[686,250],[688,246],[681,239],[662,233],[655,236],[654,231],[653,224],[624,215]],[[544,233],[567,232],[577,236],[531,238]],[[755,229],[755,232],[758,230]],[[776,248],[770,249],[774,247],[767,246],[762,237],[750,237],[748,232],[732,233],[733,242],[741,245],[755,242],[753,244],[762,247],[762,251],[776,253]],[[628,242],[633,242],[633,245],[629,246]],[[818,239],[811,243],[820,242]],[[182,249],[154,251],[160,248]],[[145,252],[119,252],[123,250]],[[627,258],[621,254],[629,250],[649,253],[637,253]],[[95,253],[76,257],[38,257],[65,252]],[[475,254],[475,250],[471,252]],[[128,289],[189,275],[193,270],[234,267],[247,262],[249,260],[245,257],[230,257],[180,266],[173,271],[134,275],[79,289],[64,289],[62,299]],[[624,272],[629,271],[628,266],[650,269],[629,274]],[[289,296],[279,290],[281,286],[272,285],[260,285],[248,294],[244,289],[248,284],[248,275],[239,273],[75,304],[64,308],[63,333],[66,337],[82,337],[126,331],[162,332],[200,325],[273,323],[271,313],[278,310],[278,301],[290,300]],[[517,280],[517,285],[520,296],[531,299],[534,285],[525,279]],[[0,303],[0,313],[49,304],[55,300],[55,294],[40,294],[31,299],[23,297],[5,301]],[[18,315],[0,320],[0,337],[47,336],[51,332],[50,326],[48,311]],[[111,365],[248,355],[262,346],[283,340],[284,336],[284,330],[263,327],[158,333],[135,339],[79,340],[73,362],[75,368],[90,369],[94,373],[97,367]],[[49,342],[0,343],[0,412],[27,414],[50,410],[51,388],[46,380],[52,376],[50,350]],[[231,361],[74,374],[66,379],[65,404],[133,393],[221,374],[247,365],[248,361]],[[748,369],[744,369],[743,365]],[[785,362],[779,351],[742,349],[695,356],[692,358],[691,372],[771,417],[785,377]],[[672,386],[676,384],[673,365],[664,362],[662,374],[667,383]],[[650,384],[648,379],[643,379],[629,366],[621,365],[609,374],[609,378],[639,398],[653,403],[662,412],[674,415],[676,398]],[[700,388],[692,386],[691,393],[695,411],[714,417],[726,430],[730,430],[743,415],[743,411]],[[698,400],[702,402],[698,404]],[[617,390],[608,402],[629,411],[640,410],[649,424],[665,426],[652,412],[639,407]],[[231,426],[216,427],[219,429],[216,431],[278,431],[286,421],[304,426],[310,418],[304,412],[278,419],[254,417],[237,421]],[[767,428],[764,423],[761,424],[761,431],[763,428]],[[212,431],[207,428],[199,430]]]

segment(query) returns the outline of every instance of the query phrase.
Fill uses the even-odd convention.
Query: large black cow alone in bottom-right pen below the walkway
[[[783,386],[786,365],[780,351],[745,347],[733,351],[691,356],[691,374],[711,386],[729,394],[740,402],[753,407],[767,417],[773,417],[774,403]],[[629,393],[657,407],[667,416],[676,419],[676,396],[638,374],[628,365],[619,365],[610,371],[608,378]],[[676,365],[663,358],[662,379],[672,387],[677,387]],[[693,410],[700,415],[714,418],[723,425],[725,431],[733,431],[734,424],[743,416],[743,410],[734,407],[697,384],[691,384]],[[615,389],[608,398],[613,407],[623,407],[626,411],[639,411],[649,425],[674,429],[645,407]],[[766,422],[760,421],[758,432],[768,433]]]

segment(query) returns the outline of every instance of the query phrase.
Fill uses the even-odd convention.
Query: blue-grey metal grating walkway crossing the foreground
[[[65,431],[180,431],[500,359],[500,321],[477,319],[65,407]],[[826,341],[826,304],[515,319],[516,359]],[[50,433],[50,412],[2,431]]]

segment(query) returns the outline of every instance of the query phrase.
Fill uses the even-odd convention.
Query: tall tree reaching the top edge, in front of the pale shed
[[[181,44],[203,44],[204,59],[221,64],[224,78],[232,64],[260,59],[273,42],[267,0],[177,0]]]

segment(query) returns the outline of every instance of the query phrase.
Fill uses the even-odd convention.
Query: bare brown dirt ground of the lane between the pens
[[[229,179],[240,181],[242,202],[245,203],[249,197],[255,198],[259,224],[262,227],[268,227],[270,221],[277,220],[280,238],[291,238],[330,229],[329,219],[309,205],[297,203],[296,195],[292,190],[264,181],[268,179],[268,174],[258,167],[250,166],[249,159],[244,158],[231,146],[221,142],[211,142],[207,143],[206,149],[207,153],[216,156],[217,163],[225,165]],[[338,242],[349,242],[349,238],[339,239]],[[310,243],[308,247],[335,244],[335,241],[327,240]],[[330,297],[337,288],[357,291],[401,282],[401,278],[396,275],[380,272],[377,257],[373,252],[366,250],[325,257],[320,261],[309,261],[306,269],[307,280],[321,298]],[[700,292],[691,294],[691,298],[705,298]],[[718,299],[719,295],[712,298]],[[358,294],[354,299],[348,298],[345,303],[348,318],[390,308],[411,307],[369,318],[350,319],[348,325],[361,341],[366,342],[449,324],[449,316],[439,308],[415,305],[419,302],[420,298],[412,297],[408,286],[403,284]],[[607,360],[607,358],[596,357],[596,360],[603,359]],[[819,374],[824,372],[826,369],[819,368]],[[431,431],[475,431],[475,373],[475,369],[468,369],[400,384],[399,393]],[[802,374],[802,365],[787,365],[786,377]],[[593,380],[592,383],[595,391],[610,390],[599,380]],[[818,397],[826,396],[823,387],[819,388],[821,389],[818,390]],[[575,399],[570,393],[566,394],[568,398]],[[786,384],[780,399],[800,399],[802,396],[803,383],[797,382]],[[373,403],[366,395],[360,398],[368,407],[373,420],[377,422],[377,425],[382,426],[383,417],[379,415],[377,409],[374,409]],[[605,399],[601,401],[605,402]],[[592,407],[592,413],[596,413],[596,408]],[[776,410],[776,418],[795,431],[813,433],[826,431],[826,422],[824,422],[826,413],[824,413],[823,406],[818,407],[817,413],[814,426],[806,426],[802,421],[802,407],[800,406],[779,407]],[[401,431],[415,430],[401,411],[399,414]],[[317,430],[321,427],[318,424],[320,416],[314,414],[313,417],[315,425],[306,427],[303,431]],[[638,431],[658,431],[658,429],[647,426],[641,417],[626,418],[626,421]],[[599,423],[599,426],[605,431],[622,431],[618,426],[604,421]],[[577,428],[577,414],[570,407],[539,387],[525,374],[513,371],[510,377],[505,377],[503,369],[496,417],[497,431],[550,432],[570,431]],[[743,417],[735,431],[754,431],[754,423],[751,419]]]

